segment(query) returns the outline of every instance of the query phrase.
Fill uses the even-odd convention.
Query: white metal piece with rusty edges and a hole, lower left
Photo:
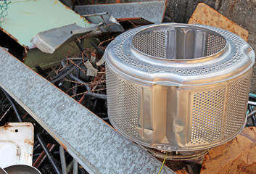
[[[34,128],[32,123],[8,123],[0,127],[0,167],[32,165]]]

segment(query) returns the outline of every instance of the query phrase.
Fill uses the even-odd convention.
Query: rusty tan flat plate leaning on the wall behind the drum
[[[247,30],[241,28],[232,20],[228,20],[227,17],[223,16],[215,9],[212,9],[204,3],[199,3],[197,5],[197,9],[195,9],[194,13],[192,14],[189,24],[203,24],[222,28],[235,33],[243,38],[244,41],[248,41],[249,32]]]

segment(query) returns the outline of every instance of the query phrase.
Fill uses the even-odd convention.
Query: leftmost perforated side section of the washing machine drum
[[[115,103],[109,106],[111,119],[126,133],[138,137],[138,87],[125,83],[111,73],[107,69],[107,93],[115,96],[108,98],[109,103]]]

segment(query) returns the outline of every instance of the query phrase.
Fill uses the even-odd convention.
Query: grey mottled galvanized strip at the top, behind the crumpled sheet
[[[142,17],[156,24],[162,23],[167,1],[143,1],[120,4],[75,6],[80,15],[109,12],[116,19]]]

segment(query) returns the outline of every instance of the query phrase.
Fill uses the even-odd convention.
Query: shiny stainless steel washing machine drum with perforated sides
[[[123,136],[163,151],[197,151],[246,122],[255,52],[206,25],[148,25],[107,46],[107,105]]]

